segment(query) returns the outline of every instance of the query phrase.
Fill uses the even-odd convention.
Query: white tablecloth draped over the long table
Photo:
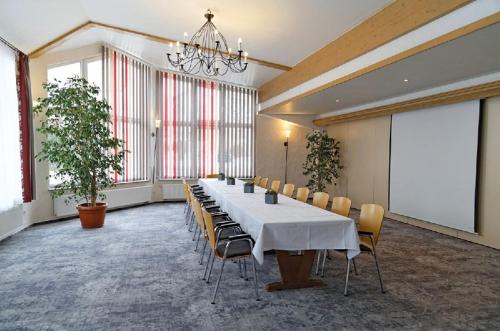
[[[263,188],[243,193],[243,181],[227,185],[217,179],[200,179],[206,194],[255,240],[253,255],[264,262],[264,251],[346,249],[348,258],[360,253],[355,222],[328,210],[278,196],[278,204],[264,202]]]

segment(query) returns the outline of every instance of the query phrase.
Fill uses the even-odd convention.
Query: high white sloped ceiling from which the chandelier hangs
[[[392,0],[0,0],[0,36],[29,53],[87,21],[183,40],[204,23],[210,8],[230,45],[243,38],[254,58],[293,66],[380,11]],[[21,19],[20,19],[21,18]],[[26,24],[29,22],[29,24]],[[130,35],[92,29],[53,51],[105,42],[165,62],[165,47]],[[244,84],[259,86],[281,71],[255,66]]]

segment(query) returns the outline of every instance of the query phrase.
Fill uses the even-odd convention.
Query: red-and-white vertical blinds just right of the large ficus
[[[122,175],[114,174],[117,183],[148,179],[151,71],[149,65],[104,47],[103,91],[112,107],[111,129],[129,151]]]

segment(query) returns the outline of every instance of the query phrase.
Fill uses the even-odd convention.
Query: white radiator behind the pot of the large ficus
[[[152,186],[122,188],[116,190],[103,191],[106,194],[108,208],[118,208],[141,204],[151,201]],[[54,199],[54,214],[57,217],[76,215],[76,203],[66,204],[64,200],[67,196]]]

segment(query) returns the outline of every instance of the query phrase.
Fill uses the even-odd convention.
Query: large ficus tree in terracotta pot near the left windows
[[[39,98],[33,109],[44,115],[38,131],[45,139],[36,157],[51,164],[49,176],[59,182],[52,197],[68,194],[66,203],[78,203],[83,228],[102,227],[107,208],[102,190],[114,185],[112,173],[121,174],[125,153],[110,129],[111,107],[84,78],[49,82],[43,88],[47,97]]]

